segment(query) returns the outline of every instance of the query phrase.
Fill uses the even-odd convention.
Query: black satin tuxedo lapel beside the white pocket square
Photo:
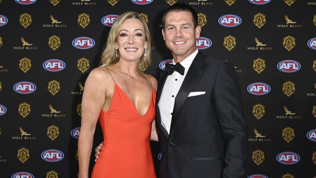
[[[170,133],[172,132],[172,129],[176,123],[176,120],[178,119],[179,112],[181,110],[181,107],[183,106],[184,102],[188,98],[189,93],[192,91],[196,83],[199,81],[200,77],[202,76],[205,67],[205,55],[198,52],[193,59],[192,65],[189,68],[188,73],[186,74],[183,83],[176,95],[175,98],[175,106],[174,111],[172,115],[171,120],[171,127],[170,127]]]

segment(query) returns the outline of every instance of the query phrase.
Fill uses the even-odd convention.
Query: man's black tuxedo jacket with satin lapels
[[[158,107],[167,76],[160,76],[156,100],[160,178],[244,178],[247,133],[234,67],[197,53],[176,95],[170,135]],[[194,91],[205,94],[188,97]]]

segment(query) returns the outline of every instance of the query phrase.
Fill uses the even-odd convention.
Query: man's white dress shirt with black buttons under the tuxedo
[[[166,82],[162,88],[158,107],[160,110],[161,125],[165,127],[168,134],[170,133],[171,118],[175,106],[176,95],[197,53],[198,50],[196,49],[195,52],[193,52],[182,62],[180,62],[180,64],[185,68],[184,75],[181,75],[177,71],[174,71],[173,74],[168,75]],[[175,59],[173,59],[172,61],[175,65]]]

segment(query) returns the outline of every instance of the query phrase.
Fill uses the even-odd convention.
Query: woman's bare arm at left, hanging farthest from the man
[[[78,140],[79,178],[88,178],[93,135],[100,111],[105,103],[105,72],[90,72],[81,103],[81,128]]]

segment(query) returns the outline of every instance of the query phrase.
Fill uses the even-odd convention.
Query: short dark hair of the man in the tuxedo
[[[194,25],[194,28],[196,28],[198,26],[198,20],[197,20],[197,14],[195,12],[195,10],[187,5],[187,4],[184,4],[184,3],[176,3],[172,6],[170,6],[163,14],[162,16],[162,28],[164,29],[165,28],[165,18],[167,16],[167,14],[169,12],[181,12],[181,11],[186,11],[186,12],[189,12],[191,13],[192,15],[192,21],[193,21],[193,25]]]

